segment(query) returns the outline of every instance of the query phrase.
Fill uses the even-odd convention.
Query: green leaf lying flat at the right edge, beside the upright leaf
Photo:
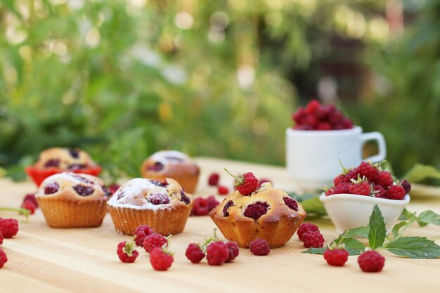
[[[426,237],[402,237],[389,242],[384,248],[389,252],[408,256],[410,259],[438,259],[440,246]]]

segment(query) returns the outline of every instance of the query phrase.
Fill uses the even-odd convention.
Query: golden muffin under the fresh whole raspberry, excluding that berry
[[[209,212],[224,237],[247,248],[250,242],[264,238],[271,248],[289,241],[306,217],[306,211],[285,191],[266,182],[249,196],[238,191]]]

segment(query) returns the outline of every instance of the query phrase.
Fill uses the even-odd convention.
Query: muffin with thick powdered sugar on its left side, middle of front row
[[[108,201],[115,229],[123,235],[133,235],[141,225],[164,236],[181,233],[192,207],[193,196],[172,178],[131,179]]]

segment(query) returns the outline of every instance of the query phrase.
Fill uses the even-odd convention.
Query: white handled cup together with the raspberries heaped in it
[[[384,136],[363,133],[334,105],[312,100],[298,108],[295,125],[286,130],[286,167],[293,181],[303,190],[316,190],[339,174],[338,159],[348,166],[363,160],[381,162],[387,155]],[[363,145],[376,141],[377,154],[363,158]]]

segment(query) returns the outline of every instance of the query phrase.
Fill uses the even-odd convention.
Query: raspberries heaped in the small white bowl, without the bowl
[[[392,174],[384,171],[380,164],[361,162],[358,167],[345,169],[333,180],[325,195],[353,194],[367,195],[389,200],[403,200],[411,190],[408,181],[394,182]]]

